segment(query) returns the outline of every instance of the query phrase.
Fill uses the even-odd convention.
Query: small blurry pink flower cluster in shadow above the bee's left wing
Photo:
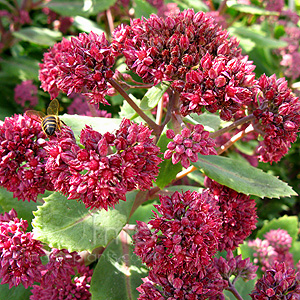
[[[38,104],[37,86],[32,83],[32,80],[23,81],[15,87],[15,101],[22,107],[25,107],[26,101],[29,102],[30,107]]]

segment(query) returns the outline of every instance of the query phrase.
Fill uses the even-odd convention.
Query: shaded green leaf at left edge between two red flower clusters
[[[18,201],[13,197],[12,192],[0,187],[0,205],[4,211],[9,212],[12,208],[17,212],[18,218],[28,221],[28,231],[31,231],[31,221],[33,219],[33,211],[35,211],[39,203],[33,201]]]

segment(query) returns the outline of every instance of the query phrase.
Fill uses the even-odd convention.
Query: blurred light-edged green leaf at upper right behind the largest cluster
[[[265,49],[271,48],[276,49],[280,47],[287,46],[287,43],[281,40],[276,40],[271,37],[268,37],[264,34],[264,32],[256,30],[256,27],[253,28],[245,28],[241,25],[236,25],[230,27],[228,31],[234,35],[243,38],[247,38],[252,40],[257,46],[263,47]]]

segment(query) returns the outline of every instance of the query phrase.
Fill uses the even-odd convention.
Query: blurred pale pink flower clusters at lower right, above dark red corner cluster
[[[292,238],[288,232],[283,229],[270,230],[264,237],[264,240],[256,238],[248,242],[255,251],[254,262],[260,265],[262,271],[272,268],[275,262],[284,262],[287,268],[293,268],[293,255],[289,252]]]

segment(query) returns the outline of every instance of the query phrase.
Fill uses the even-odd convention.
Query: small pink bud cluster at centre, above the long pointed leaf
[[[209,137],[209,132],[204,130],[201,124],[189,124],[189,128],[182,129],[181,134],[176,134],[172,129],[166,132],[168,139],[173,139],[167,145],[168,150],[164,153],[165,159],[172,157],[172,163],[175,165],[181,162],[184,168],[190,166],[190,162],[198,160],[198,153],[202,155],[216,155],[214,149],[215,142]]]

